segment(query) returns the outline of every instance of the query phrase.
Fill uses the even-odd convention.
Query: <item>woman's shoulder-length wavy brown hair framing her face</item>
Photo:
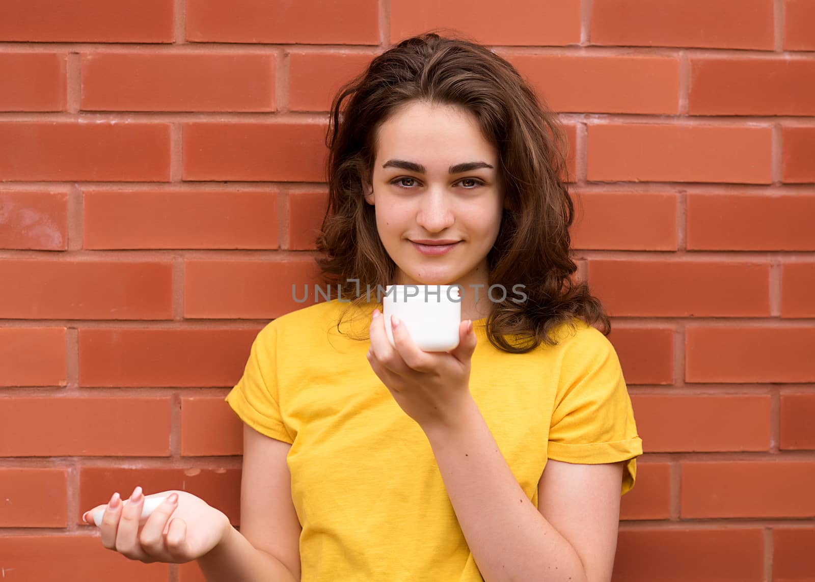
[[[524,353],[574,319],[610,321],[588,284],[575,283],[569,227],[574,206],[566,187],[566,134],[557,115],[518,71],[487,47],[464,38],[425,33],[377,55],[334,96],[328,122],[328,209],[315,258],[326,284],[353,305],[364,290],[393,283],[395,263],[377,232],[375,210],[363,198],[372,175],[376,134],[408,102],[465,108],[499,152],[505,208],[495,245],[487,254],[489,285],[526,285],[525,302],[491,302],[487,337],[499,350]],[[350,279],[359,280],[359,286]],[[367,287],[370,285],[370,288]],[[339,328],[339,324],[337,324]]]

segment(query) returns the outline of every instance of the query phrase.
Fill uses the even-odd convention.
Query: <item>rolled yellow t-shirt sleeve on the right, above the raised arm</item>
[[[548,458],[623,465],[620,495],[632,489],[642,454],[634,411],[617,353],[596,328],[586,326],[564,346],[549,427]]]

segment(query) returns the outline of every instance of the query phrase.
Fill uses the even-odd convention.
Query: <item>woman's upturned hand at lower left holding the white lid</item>
[[[104,508],[102,545],[139,562],[192,562],[226,540],[231,524],[226,514],[183,491],[165,491],[149,497],[168,497],[146,519],[141,519],[145,496],[136,487],[126,503],[114,493],[108,505],[97,505],[82,516],[93,524],[93,512]],[[175,496],[175,499],[173,499]]]

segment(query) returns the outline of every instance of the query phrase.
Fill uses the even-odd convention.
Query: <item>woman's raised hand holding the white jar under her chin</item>
[[[374,310],[368,362],[396,403],[427,431],[453,425],[469,394],[470,358],[477,343],[470,320],[459,324],[459,345],[449,352],[421,351],[407,328],[391,320],[394,344],[385,333],[385,317]]]

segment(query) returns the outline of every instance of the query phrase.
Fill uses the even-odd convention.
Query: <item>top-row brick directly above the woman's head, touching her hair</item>
[[[511,10],[498,14],[489,0],[391,0],[390,42],[396,44],[430,29],[443,29],[439,31],[443,36],[463,33],[487,45],[580,42],[579,0],[517,0]]]

